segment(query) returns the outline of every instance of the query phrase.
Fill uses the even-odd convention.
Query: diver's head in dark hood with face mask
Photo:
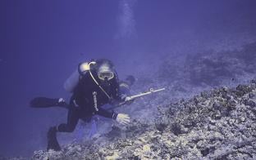
[[[98,64],[98,78],[103,81],[109,81],[115,77],[113,64],[110,60],[100,59],[96,61]]]

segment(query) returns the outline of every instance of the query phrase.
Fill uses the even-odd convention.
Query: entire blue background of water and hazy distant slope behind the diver
[[[46,149],[48,127],[66,122],[67,112],[32,109],[30,100],[68,101],[63,83],[85,60],[107,58],[120,79],[134,75],[133,94],[166,88],[117,109],[145,124],[155,123],[159,105],[250,82],[256,78],[255,7],[254,0],[2,0],[0,155],[31,157]],[[102,143],[113,124],[100,118],[95,139]],[[58,139],[89,144],[90,129],[80,123]]]

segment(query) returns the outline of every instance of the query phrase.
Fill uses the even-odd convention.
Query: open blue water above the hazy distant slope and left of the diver
[[[48,127],[66,122],[66,110],[29,102],[68,100],[63,82],[81,61],[108,58],[120,78],[139,77],[169,56],[235,49],[256,37],[255,7],[254,0],[2,0],[0,154],[46,148]]]

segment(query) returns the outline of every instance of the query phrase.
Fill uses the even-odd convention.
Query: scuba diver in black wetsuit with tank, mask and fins
[[[67,122],[49,128],[47,149],[61,150],[57,142],[57,132],[72,132],[79,119],[88,122],[95,114],[112,118],[123,125],[128,124],[129,115],[103,109],[103,105],[126,102],[126,97],[130,95],[130,86],[134,82],[133,76],[119,81],[112,61],[99,59],[80,63],[78,69],[66,79],[64,88],[72,93],[69,104],[62,98],[36,97],[31,100],[30,106],[34,108],[60,106],[68,109]]]

